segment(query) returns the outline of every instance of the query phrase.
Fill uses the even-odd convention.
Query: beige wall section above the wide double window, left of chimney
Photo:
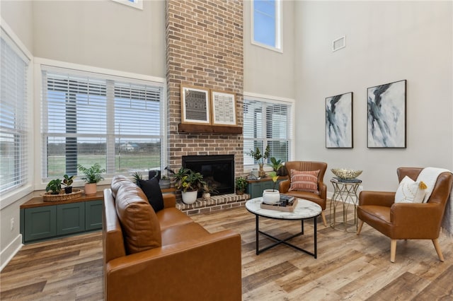
[[[165,1],[34,1],[35,57],[165,78]]]

